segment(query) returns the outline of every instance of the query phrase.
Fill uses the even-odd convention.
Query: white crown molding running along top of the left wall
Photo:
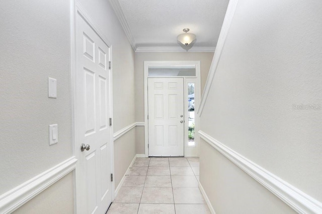
[[[119,19],[119,21],[123,27],[123,30],[126,34],[127,39],[129,40],[133,50],[135,51],[136,45],[135,45],[134,37],[132,35],[129,25],[127,24],[126,18],[123,14],[123,11],[122,11],[119,1],[118,0],[110,0],[110,3],[114,9],[114,12],[115,12],[117,18]]]

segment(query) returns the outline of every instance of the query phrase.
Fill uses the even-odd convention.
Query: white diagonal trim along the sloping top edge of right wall
[[[200,106],[199,106],[199,110],[198,110],[199,117],[201,116],[203,108],[205,106],[207,96],[209,94],[210,87],[213,82],[213,78],[215,76],[216,70],[217,70],[218,62],[220,60],[221,53],[222,53],[222,50],[223,50],[223,47],[224,47],[224,44],[225,44],[225,41],[226,41],[226,38],[228,35],[228,31],[229,31],[233,16],[235,14],[237,4],[238,4],[238,0],[230,0],[229,1],[227,12],[225,15],[225,19],[223,21],[220,35],[219,35],[219,39],[217,42],[216,50],[213,55],[213,59],[212,59],[211,66],[209,69],[209,74],[207,77],[205,88],[204,88],[202,96],[201,96],[201,102],[200,102]]]

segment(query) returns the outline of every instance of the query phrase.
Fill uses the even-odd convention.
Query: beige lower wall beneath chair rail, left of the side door
[[[70,172],[32,200],[15,210],[15,214],[74,213],[73,172]]]

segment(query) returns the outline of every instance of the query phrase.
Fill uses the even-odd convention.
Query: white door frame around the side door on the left
[[[79,150],[79,143],[77,143],[78,132],[75,126],[76,118],[76,68],[77,68],[77,54],[76,54],[76,26],[77,26],[77,16],[81,16],[88,25],[94,30],[94,32],[102,39],[102,41],[109,47],[109,61],[112,61],[112,43],[107,39],[107,37],[98,28],[98,25],[94,23],[92,18],[87,14],[86,10],[81,4],[75,0],[70,0],[70,59],[71,59],[71,115],[72,115],[72,145],[73,145],[73,155],[77,158],[76,151]],[[109,110],[110,117],[113,117],[113,75],[112,69],[109,72]],[[113,123],[110,126],[110,163],[111,163],[111,173],[114,173],[114,141],[113,141]],[[75,170],[79,168],[79,164],[76,164]],[[76,186],[76,176],[75,170],[73,170],[73,181],[74,181],[74,213],[77,213],[77,186]],[[115,182],[111,182],[111,196],[112,201],[115,199]]]

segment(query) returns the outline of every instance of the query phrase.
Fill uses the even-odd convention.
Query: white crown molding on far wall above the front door
[[[216,47],[192,47],[188,51],[182,47],[137,47],[135,52],[215,52]]]

